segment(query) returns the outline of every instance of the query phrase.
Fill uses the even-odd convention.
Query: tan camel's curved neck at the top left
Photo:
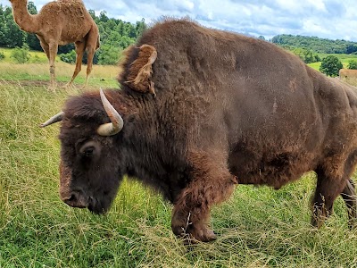
[[[12,1],[13,19],[24,31],[36,33],[35,19],[37,15],[31,15],[28,11],[27,1]]]

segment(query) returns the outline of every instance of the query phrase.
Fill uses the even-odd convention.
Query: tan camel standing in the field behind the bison
[[[35,33],[46,53],[50,64],[50,88],[55,88],[54,60],[58,46],[74,43],[76,50],[76,68],[70,86],[81,70],[82,58],[87,49],[87,77],[93,68],[95,50],[99,48],[99,30],[95,21],[87,12],[82,0],[57,0],[45,4],[37,15],[28,11],[27,0],[9,0],[12,15],[19,27],[29,33]]]

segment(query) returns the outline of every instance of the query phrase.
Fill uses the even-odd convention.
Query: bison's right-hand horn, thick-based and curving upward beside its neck
[[[101,136],[115,135],[123,128],[124,121],[122,120],[120,114],[114,109],[114,107],[105,97],[102,88],[100,88],[100,96],[104,105],[105,112],[108,114],[112,122],[100,125],[96,132]]]

